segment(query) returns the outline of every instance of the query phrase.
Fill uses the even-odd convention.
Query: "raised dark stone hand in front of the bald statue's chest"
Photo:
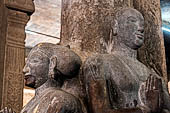
[[[162,103],[162,81],[156,76],[150,75],[140,88],[141,100],[144,106],[152,113],[159,113]]]

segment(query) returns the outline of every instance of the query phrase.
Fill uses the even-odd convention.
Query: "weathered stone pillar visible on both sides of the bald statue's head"
[[[114,10],[121,6],[134,7],[144,15],[146,40],[139,51],[139,59],[166,80],[159,0],[63,0],[61,44],[70,45],[82,59],[91,52],[112,51],[113,47],[108,46],[114,43],[110,39],[111,21]]]

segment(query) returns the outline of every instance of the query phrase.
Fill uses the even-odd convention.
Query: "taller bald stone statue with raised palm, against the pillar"
[[[144,42],[143,16],[122,8],[114,23],[111,53],[93,55],[83,66],[90,113],[170,113],[164,81],[137,60]]]

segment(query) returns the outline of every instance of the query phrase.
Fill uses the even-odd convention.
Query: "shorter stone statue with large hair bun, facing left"
[[[21,113],[83,113],[76,80],[81,63],[67,47],[50,43],[34,47],[23,72],[25,84],[36,88],[35,96]],[[12,113],[10,109],[1,112]]]

